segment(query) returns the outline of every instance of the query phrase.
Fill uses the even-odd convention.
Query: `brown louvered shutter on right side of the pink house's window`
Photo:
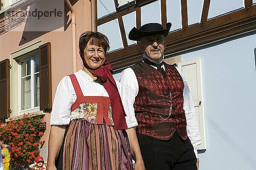
[[[51,43],[39,46],[40,110],[52,109]]]

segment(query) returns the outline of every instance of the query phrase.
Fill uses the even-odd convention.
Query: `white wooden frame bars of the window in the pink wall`
[[[29,56],[26,56],[26,57],[22,57],[21,56],[21,59],[19,59],[19,115],[23,115],[25,113],[31,113],[31,112],[35,112],[35,111],[40,111],[40,103],[38,106],[35,107],[35,89],[34,89],[34,76],[35,74],[39,74],[39,71],[38,72],[34,72],[34,68],[35,68],[35,62],[34,62],[34,58],[35,57],[39,57],[39,54],[31,54]],[[21,87],[21,62],[24,62],[24,61],[27,61],[30,59],[30,86],[31,86],[31,99],[30,99],[30,105],[31,105],[31,108],[29,109],[24,109],[22,110],[21,107],[22,107],[22,87]],[[40,75],[39,75],[40,76]],[[40,82],[39,82],[39,85],[40,85]],[[40,95],[40,94],[38,94]]]

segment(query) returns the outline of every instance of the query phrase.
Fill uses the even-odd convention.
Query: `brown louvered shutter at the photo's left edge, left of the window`
[[[9,59],[0,62],[0,119],[10,117],[10,68]]]

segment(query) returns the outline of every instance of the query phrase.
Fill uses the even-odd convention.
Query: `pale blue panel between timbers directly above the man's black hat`
[[[161,20],[161,1],[158,0],[154,3],[142,6],[141,11],[141,26],[146,23],[160,23]]]

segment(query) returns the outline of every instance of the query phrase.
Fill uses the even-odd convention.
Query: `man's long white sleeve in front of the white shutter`
[[[194,103],[192,99],[192,95],[189,91],[189,85],[186,82],[186,79],[184,79],[182,72],[177,68],[179,71],[181,77],[183,78],[184,82],[184,89],[183,89],[183,109],[185,111],[186,116],[186,122],[187,122],[187,134],[189,136],[189,139],[194,147],[195,156],[198,158],[198,148],[201,144],[201,135],[198,128],[198,121],[197,116],[195,113]]]

